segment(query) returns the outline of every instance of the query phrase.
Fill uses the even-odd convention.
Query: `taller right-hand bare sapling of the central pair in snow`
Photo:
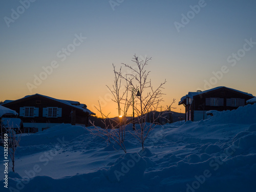
[[[166,83],[166,80],[160,83],[156,89],[153,88],[151,79],[148,79],[150,71],[145,70],[145,67],[148,65],[148,61],[150,60],[151,58],[146,57],[144,61],[140,61],[139,58],[134,55],[132,61],[135,62],[138,69],[122,63],[125,68],[128,68],[132,72],[125,76],[119,73],[120,77],[125,79],[127,84],[130,85],[129,89],[132,94],[134,94],[135,90],[135,93],[137,93],[136,96],[139,98],[139,101],[134,105],[134,111],[140,127],[139,129],[135,129],[135,132],[131,132],[131,134],[133,134],[133,136],[139,140],[142,145],[142,150],[144,150],[144,142],[148,134],[156,124],[159,124],[157,120],[160,117],[164,117],[165,114],[165,112],[163,112],[158,113],[158,115],[155,116],[155,112],[158,110],[160,103],[163,101],[162,90],[164,89],[163,85]],[[152,112],[154,114],[151,123],[146,123],[146,114],[148,114],[148,112]]]

